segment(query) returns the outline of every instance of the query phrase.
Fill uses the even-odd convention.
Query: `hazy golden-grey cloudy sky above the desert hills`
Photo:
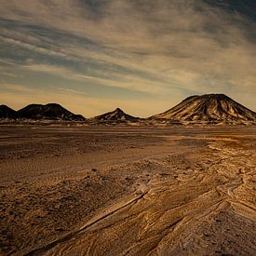
[[[146,117],[224,93],[256,111],[255,0],[0,0],[0,104]]]

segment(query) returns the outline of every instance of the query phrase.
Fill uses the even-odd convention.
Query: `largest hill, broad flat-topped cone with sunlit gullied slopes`
[[[256,121],[256,113],[224,94],[191,96],[153,119],[178,121]]]

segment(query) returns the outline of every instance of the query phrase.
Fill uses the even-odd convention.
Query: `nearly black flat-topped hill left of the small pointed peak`
[[[64,121],[84,121],[86,118],[82,115],[74,115],[72,112],[63,108],[60,104],[49,103],[46,105],[30,104],[18,112],[20,118],[27,119],[52,119]]]

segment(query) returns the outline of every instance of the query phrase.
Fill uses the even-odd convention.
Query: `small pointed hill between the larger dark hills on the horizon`
[[[92,118],[96,121],[137,121],[139,117],[134,117],[123,112],[121,109],[116,108],[115,111],[105,113],[103,115],[97,115]]]

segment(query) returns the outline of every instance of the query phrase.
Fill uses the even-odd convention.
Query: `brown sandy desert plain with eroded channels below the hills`
[[[255,255],[256,128],[0,128],[3,255]]]

